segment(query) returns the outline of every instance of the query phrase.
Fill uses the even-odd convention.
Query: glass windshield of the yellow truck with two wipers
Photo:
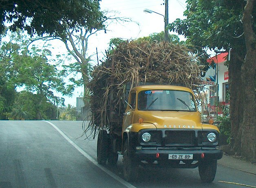
[[[138,95],[139,110],[196,111],[190,92],[177,90],[145,90]]]

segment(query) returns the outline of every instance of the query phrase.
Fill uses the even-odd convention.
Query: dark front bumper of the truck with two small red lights
[[[158,153],[158,154],[157,154]],[[204,153],[204,157],[202,157]],[[168,160],[169,154],[193,154],[193,161],[219,160],[223,156],[221,150],[213,148],[188,148],[174,150],[170,148],[143,148],[135,151],[135,157],[139,161],[147,160]],[[158,157],[157,157],[158,156]]]

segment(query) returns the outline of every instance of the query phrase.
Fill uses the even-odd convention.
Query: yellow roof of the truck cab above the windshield
[[[186,91],[191,92],[192,90],[188,87],[182,87],[177,85],[140,85],[137,87],[133,87],[131,91],[143,91],[143,90],[179,90],[179,91]]]

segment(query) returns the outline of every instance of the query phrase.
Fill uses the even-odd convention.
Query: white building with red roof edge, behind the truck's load
[[[210,68],[201,73],[203,83],[206,85],[205,98],[207,106],[203,107],[203,118],[217,118],[223,116],[223,105],[229,107],[228,68],[225,62],[228,52],[222,52],[210,59]]]

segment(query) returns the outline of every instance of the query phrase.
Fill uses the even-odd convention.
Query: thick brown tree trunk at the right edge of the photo
[[[241,74],[244,96],[241,154],[248,160],[256,160],[256,37],[252,22],[255,10],[255,0],[247,0],[242,18],[247,53]]]

